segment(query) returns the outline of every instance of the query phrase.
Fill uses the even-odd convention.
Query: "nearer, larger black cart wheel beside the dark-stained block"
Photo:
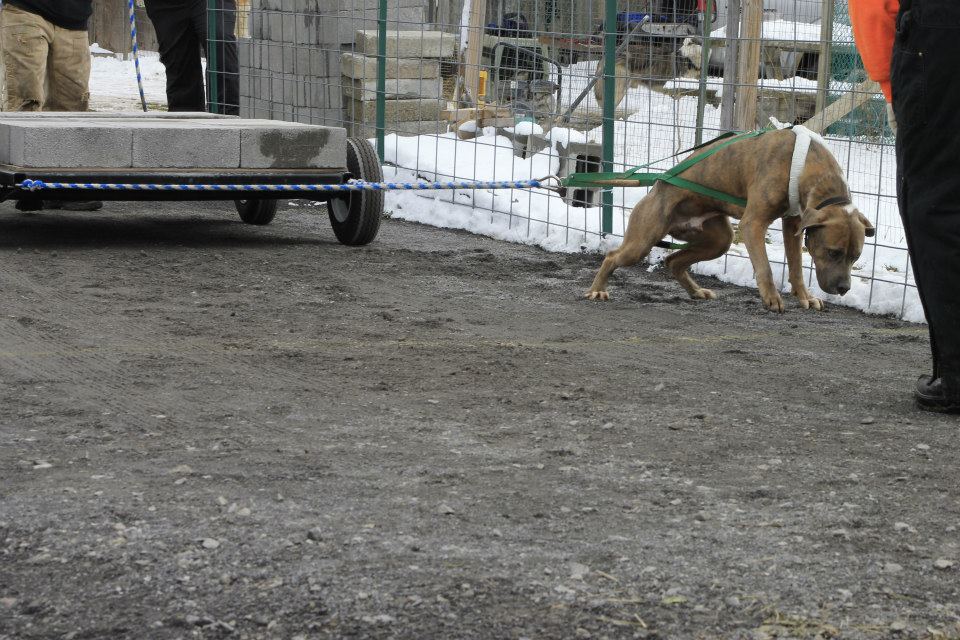
[[[373,145],[363,138],[347,138],[347,171],[364,182],[383,182],[383,167]],[[330,226],[337,240],[350,246],[367,244],[377,237],[383,215],[382,191],[350,191],[328,204]]]

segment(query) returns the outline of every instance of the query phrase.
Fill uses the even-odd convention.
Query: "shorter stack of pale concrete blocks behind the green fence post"
[[[356,52],[344,54],[344,116],[350,135],[376,133],[378,32],[358,31]],[[438,134],[447,130],[440,61],[456,55],[454,36],[440,31],[388,31],[386,117],[388,133]]]

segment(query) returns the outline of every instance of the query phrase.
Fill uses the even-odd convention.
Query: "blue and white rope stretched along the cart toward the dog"
[[[101,182],[44,182],[24,180],[19,186],[27,191],[70,189],[80,191],[223,191],[223,192],[336,192],[336,191],[426,191],[443,189],[530,189],[556,186],[556,178],[539,180],[448,180],[441,182],[364,182],[351,180],[344,184],[150,184]]]

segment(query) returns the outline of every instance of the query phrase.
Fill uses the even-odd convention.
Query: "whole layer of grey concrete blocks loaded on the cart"
[[[30,114],[34,116],[34,114]],[[346,131],[197,114],[0,114],[0,164],[54,169],[316,169]]]

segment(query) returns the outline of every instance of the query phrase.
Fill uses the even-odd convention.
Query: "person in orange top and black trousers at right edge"
[[[930,330],[914,397],[960,413],[960,2],[850,0],[857,49],[897,136],[897,202]]]

